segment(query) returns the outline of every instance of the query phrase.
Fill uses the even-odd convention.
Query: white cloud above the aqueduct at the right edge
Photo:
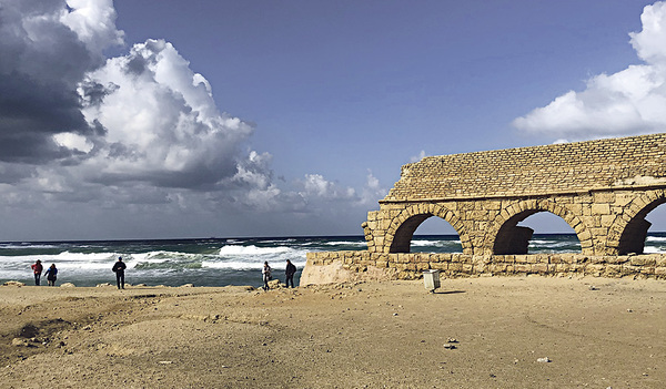
[[[567,140],[620,136],[666,127],[666,2],[645,7],[643,30],[630,33],[642,64],[591,78],[548,105],[517,117],[518,130]]]

